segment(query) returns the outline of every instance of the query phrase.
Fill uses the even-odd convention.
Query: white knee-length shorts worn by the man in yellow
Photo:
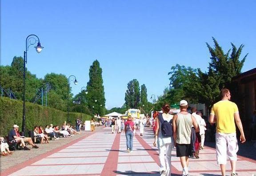
[[[237,160],[237,151],[236,133],[216,133],[217,164],[227,164],[227,155],[229,160]]]

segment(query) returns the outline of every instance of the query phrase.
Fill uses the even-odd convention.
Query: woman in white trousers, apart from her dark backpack
[[[164,104],[162,106],[163,113],[159,113],[156,118],[156,134],[155,134],[155,141],[154,146],[158,146],[159,151],[159,160],[160,160],[160,174],[161,176],[171,176],[171,154],[172,148],[174,145],[173,136],[164,137],[162,130],[161,130],[161,119],[163,118],[164,121],[167,121],[172,124],[172,117],[173,115],[169,114],[170,106],[168,104]],[[161,119],[160,119],[161,118]],[[166,123],[166,122],[165,122]],[[172,129],[171,129],[172,130]]]

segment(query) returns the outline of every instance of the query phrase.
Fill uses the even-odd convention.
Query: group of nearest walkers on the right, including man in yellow
[[[222,176],[226,176],[227,157],[231,163],[231,176],[237,176],[236,160],[238,143],[236,125],[240,131],[240,142],[245,142],[244,130],[238,108],[230,101],[228,89],[221,90],[221,100],[212,106],[208,123],[216,123],[216,158],[220,164]],[[180,112],[170,114],[170,106],[164,104],[162,113],[153,114],[154,146],[158,147],[161,176],[171,176],[171,153],[176,147],[176,156],[180,158],[183,168],[182,176],[190,176],[188,171],[189,158],[199,158],[199,151],[204,149],[205,130],[207,124],[202,113],[196,108],[188,112],[188,102],[180,101]],[[236,124],[236,125],[235,125]],[[213,125],[211,125],[213,126]]]

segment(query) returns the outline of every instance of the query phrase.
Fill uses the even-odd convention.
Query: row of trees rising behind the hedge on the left
[[[11,66],[0,66],[0,86],[4,90],[11,90],[15,97],[23,100],[23,57],[15,56],[12,59]],[[68,89],[68,78],[64,74],[50,73],[44,78],[36,78],[36,74],[26,71],[26,101],[46,105],[46,86],[47,106],[67,111],[67,105],[70,106],[70,112],[79,112],[86,114],[99,113],[103,115],[105,109],[104,86],[102,79],[102,69],[100,63],[95,60],[90,66],[89,82],[87,83],[87,92],[85,90],[73,97],[72,88]],[[43,101],[41,98],[43,89]],[[68,91],[69,90],[69,91]],[[7,95],[6,95],[7,96]],[[67,98],[69,97],[69,103]],[[80,100],[80,104],[73,104],[73,100]],[[97,100],[97,102],[95,102]],[[93,108],[92,108],[93,107]]]

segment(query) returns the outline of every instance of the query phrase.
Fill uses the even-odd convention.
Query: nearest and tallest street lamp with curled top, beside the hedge
[[[26,75],[26,63],[27,63],[27,59],[28,59],[28,48],[31,45],[36,44],[37,42],[37,46],[36,48],[36,52],[40,53],[42,51],[42,49],[44,47],[41,47],[40,44],[40,40],[38,38],[38,36],[31,34],[28,35],[27,39],[26,39],[26,51],[24,51],[24,63],[23,63],[23,117],[22,117],[22,136],[25,136],[25,129],[26,129],[26,105],[25,105],[25,99],[26,99],[26,83],[25,83],[25,75]]]

